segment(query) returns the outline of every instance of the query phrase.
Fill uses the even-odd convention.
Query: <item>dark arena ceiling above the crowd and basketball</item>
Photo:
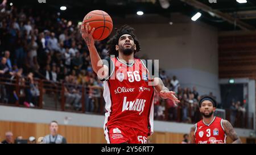
[[[42,1],[42,0],[39,0]],[[44,1],[44,0],[43,0]],[[136,15],[142,10],[144,15],[157,14],[164,18],[179,12],[191,18],[196,12],[201,12],[199,19],[217,27],[220,31],[254,30],[256,27],[256,1],[247,0],[247,3],[238,3],[236,0],[13,0],[15,6],[44,9],[60,12],[61,17],[81,20],[84,15],[92,10],[104,10],[111,16],[126,18],[128,15]],[[164,9],[163,3],[169,4]],[[210,3],[212,2],[212,3]],[[214,3],[216,2],[216,3]],[[67,6],[67,10],[61,11],[60,6]],[[163,20],[166,22],[166,20]]]

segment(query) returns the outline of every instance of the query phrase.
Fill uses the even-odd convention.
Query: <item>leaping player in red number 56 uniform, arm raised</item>
[[[147,143],[154,129],[154,87],[160,97],[179,103],[175,92],[169,91],[160,78],[150,78],[147,64],[134,58],[141,48],[133,28],[122,26],[108,41],[109,54],[114,55],[108,63],[101,60],[94,46],[94,28],[90,33],[88,30],[89,24],[84,26],[83,23],[81,33],[89,49],[92,68],[104,81],[106,141],[112,144]]]

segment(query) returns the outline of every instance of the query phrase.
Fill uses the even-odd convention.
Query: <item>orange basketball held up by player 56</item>
[[[110,35],[113,28],[113,22],[109,14],[102,10],[93,10],[85,15],[84,24],[89,23],[89,32],[95,28],[93,38],[103,40]]]

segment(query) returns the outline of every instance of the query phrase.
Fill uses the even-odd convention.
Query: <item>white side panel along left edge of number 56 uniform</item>
[[[110,143],[109,141],[109,135],[108,135],[108,128],[106,127],[106,123],[108,123],[108,118],[110,116],[110,112],[111,112],[111,106],[112,106],[112,101],[110,99],[110,90],[109,90],[109,85],[107,81],[103,82],[104,84],[104,91],[103,91],[103,97],[105,99],[106,102],[106,110],[107,112],[105,113],[105,122],[104,122],[104,133],[105,133],[105,139],[108,142],[108,144]]]

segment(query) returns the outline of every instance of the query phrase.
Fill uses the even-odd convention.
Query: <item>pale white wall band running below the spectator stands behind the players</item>
[[[67,125],[65,118],[71,118],[68,125],[77,125],[85,127],[102,128],[104,124],[104,116],[76,114],[72,112],[60,112],[50,110],[38,110],[32,108],[20,108],[0,106],[0,120],[11,122],[27,122],[27,123],[49,123],[56,120],[59,124]],[[172,123],[172,122],[154,122],[154,131],[172,132],[172,133],[189,133],[192,124]],[[1,127],[0,127],[1,128]],[[250,135],[249,129],[236,129],[239,136],[247,137]]]

